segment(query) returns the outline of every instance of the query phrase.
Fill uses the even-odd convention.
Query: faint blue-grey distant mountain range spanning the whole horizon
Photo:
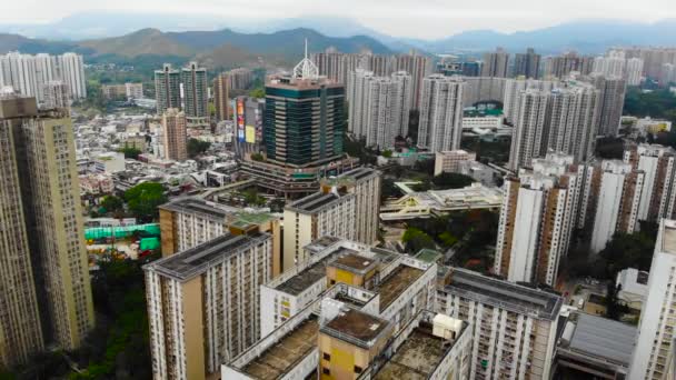
[[[533,47],[543,53],[577,50],[583,53],[600,53],[615,46],[670,46],[676,36],[676,20],[667,19],[654,23],[619,20],[578,20],[530,31],[503,33],[493,30],[468,30],[448,38],[419,40],[396,38],[378,32],[358,21],[342,17],[306,16],[256,20],[251,18],[223,18],[210,14],[150,14],[123,12],[74,13],[64,19],[41,24],[0,24],[0,32],[21,34],[34,39],[67,41],[96,40],[127,36],[139,30],[158,29],[167,37],[186,44],[190,36],[205,33],[213,38],[242,34],[275,34],[297,29],[314,30],[326,38],[370,37],[392,51],[418,49],[434,53],[477,52],[504,47],[509,51],[521,51]],[[193,32],[200,30],[203,32]],[[172,33],[189,32],[175,36]],[[220,37],[219,37],[220,36]],[[185,37],[181,39],[181,37]],[[66,41],[66,42],[64,42]],[[324,47],[322,41],[310,41],[312,49]],[[338,41],[334,41],[338,43]],[[0,41],[0,43],[2,43]],[[188,44],[199,43],[189,41]],[[229,42],[228,42],[229,43]],[[369,42],[370,43],[370,42]],[[233,44],[237,47],[237,44]],[[272,47],[278,46],[272,43]],[[185,48],[185,47],[182,47]],[[179,48],[182,49],[182,48]],[[239,48],[242,48],[239,46]],[[142,50],[142,49],[141,49]],[[247,50],[247,49],[245,49]],[[258,51],[260,53],[260,51]]]

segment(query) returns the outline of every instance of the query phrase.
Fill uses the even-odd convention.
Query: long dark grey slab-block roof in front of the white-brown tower
[[[481,303],[549,320],[556,319],[563,303],[559,296],[459,268],[453,269],[445,289]]]

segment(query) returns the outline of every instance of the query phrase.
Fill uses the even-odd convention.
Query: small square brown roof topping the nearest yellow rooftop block
[[[344,309],[320,329],[321,333],[347,341],[361,348],[370,348],[370,342],[384,333],[389,322],[355,309]]]

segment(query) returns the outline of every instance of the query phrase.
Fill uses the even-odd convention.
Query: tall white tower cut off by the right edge
[[[673,320],[676,313],[676,221],[659,221],[648,291],[640,312],[638,334],[627,379],[663,380],[672,369]]]

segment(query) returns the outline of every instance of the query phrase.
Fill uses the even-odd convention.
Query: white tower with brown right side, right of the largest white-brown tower
[[[598,253],[615,232],[632,233],[638,222],[638,207],[644,188],[645,173],[634,170],[620,160],[604,160],[597,168],[600,176],[594,181],[589,194],[596,199],[590,251]]]

